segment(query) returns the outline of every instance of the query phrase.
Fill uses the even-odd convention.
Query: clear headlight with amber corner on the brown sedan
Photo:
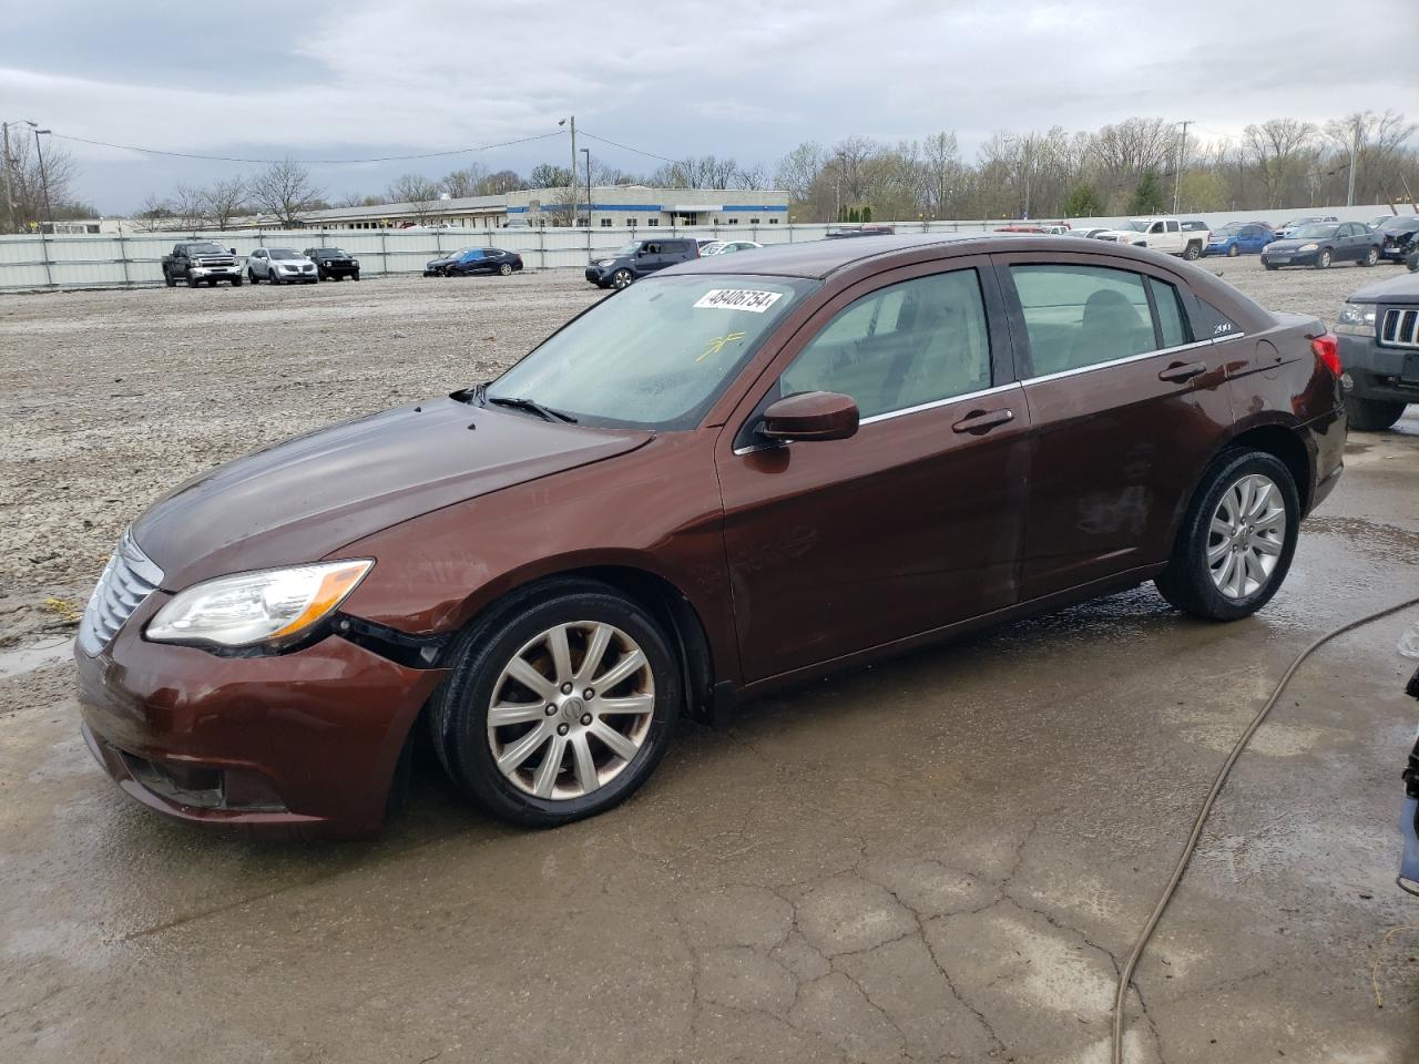
[[[163,606],[145,634],[156,643],[221,647],[285,640],[335,610],[373,565],[360,558],[204,580]]]

